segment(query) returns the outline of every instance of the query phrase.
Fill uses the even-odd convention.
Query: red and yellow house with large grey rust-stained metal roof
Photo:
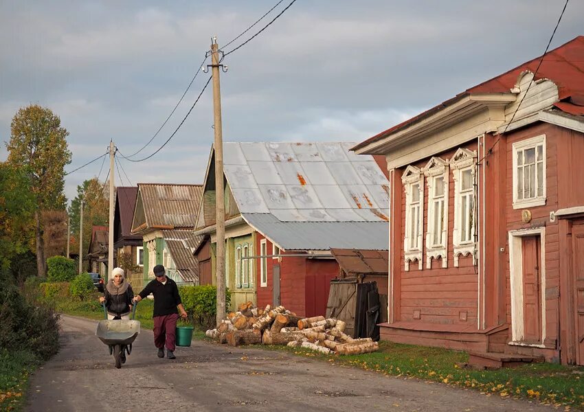
[[[232,307],[283,304],[300,316],[324,314],[331,247],[384,249],[388,179],[349,143],[225,143],[226,283]],[[207,282],[215,282],[214,149],[195,234]]]

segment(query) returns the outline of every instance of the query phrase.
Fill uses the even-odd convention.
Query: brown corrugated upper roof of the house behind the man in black
[[[192,228],[203,185],[138,183],[148,227]]]

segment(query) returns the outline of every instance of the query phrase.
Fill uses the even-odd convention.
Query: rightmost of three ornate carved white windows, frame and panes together
[[[454,266],[458,266],[460,255],[473,255],[475,245],[475,160],[476,153],[459,148],[450,161],[454,179]]]

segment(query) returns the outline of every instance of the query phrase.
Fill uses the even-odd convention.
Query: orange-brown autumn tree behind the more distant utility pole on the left
[[[78,233],[82,200],[85,202],[83,206],[83,253],[87,253],[91,240],[91,227],[109,225],[109,185],[94,177],[77,186],[77,196],[69,205],[71,233],[74,235],[74,242],[71,244],[73,251],[77,251],[79,248]]]

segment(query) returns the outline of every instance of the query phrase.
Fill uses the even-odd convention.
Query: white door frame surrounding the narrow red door
[[[509,345],[546,347],[546,227],[510,230],[509,232],[509,272],[511,288],[511,341]],[[521,238],[539,236],[539,276],[541,282],[541,343],[524,341],[523,312],[523,250]]]

